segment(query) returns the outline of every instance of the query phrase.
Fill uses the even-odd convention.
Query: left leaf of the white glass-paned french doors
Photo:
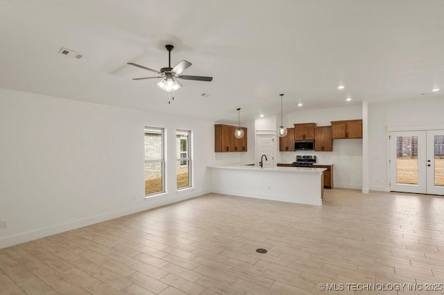
[[[390,190],[427,193],[426,132],[390,132]]]

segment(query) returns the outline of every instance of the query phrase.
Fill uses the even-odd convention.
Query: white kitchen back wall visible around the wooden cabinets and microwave
[[[362,118],[361,105],[294,111],[284,115],[284,126],[296,123],[316,123],[318,126],[331,125],[334,120]],[[292,163],[296,155],[316,155],[317,163],[333,164],[333,183],[336,188],[362,188],[362,139],[334,139],[332,152],[279,152],[278,163]]]

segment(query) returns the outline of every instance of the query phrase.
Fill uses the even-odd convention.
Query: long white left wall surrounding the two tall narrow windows
[[[144,126],[167,130],[167,193],[144,196]],[[176,129],[194,188],[176,191]],[[0,248],[210,192],[214,123],[0,89]]]

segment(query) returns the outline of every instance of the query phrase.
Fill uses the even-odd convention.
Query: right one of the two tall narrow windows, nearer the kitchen
[[[190,136],[191,132],[187,130],[177,130],[177,188],[189,188],[191,186],[191,150]]]

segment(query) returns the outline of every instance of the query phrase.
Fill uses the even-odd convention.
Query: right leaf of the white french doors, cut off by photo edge
[[[444,130],[427,131],[427,193],[444,195]]]

